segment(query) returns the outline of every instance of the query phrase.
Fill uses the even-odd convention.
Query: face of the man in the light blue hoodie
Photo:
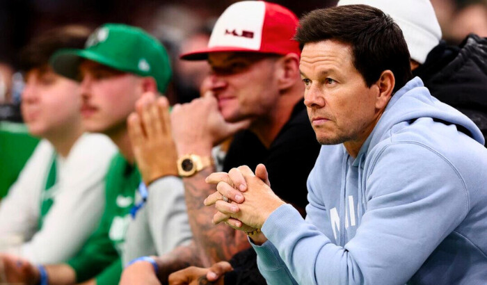
[[[375,124],[378,87],[367,88],[353,66],[349,44],[305,44],[299,68],[317,140],[322,145],[365,140]]]

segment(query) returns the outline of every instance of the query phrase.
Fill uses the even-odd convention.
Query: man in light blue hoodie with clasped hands
[[[479,129],[411,79],[401,30],[381,10],[314,10],[295,38],[323,145],[306,220],[259,165],[207,178],[214,222],[248,232],[269,284],[487,284]]]

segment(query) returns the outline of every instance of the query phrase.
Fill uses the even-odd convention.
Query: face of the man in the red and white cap
[[[276,56],[218,52],[208,56],[207,83],[227,122],[262,117],[276,107]]]

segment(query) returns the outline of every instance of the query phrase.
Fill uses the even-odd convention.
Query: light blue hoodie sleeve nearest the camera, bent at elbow
[[[272,244],[266,246],[276,247],[274,256],[289,269],[289,279],[294,277],[298,284],[405,284],[468,213],[462,177],[447,158],[429,147],[408,142],[388,145],[369,169],[365,214],[359,218],[356,236],[344,247],[332,243],[330,234],[320,229],[326,213],[312,209],[319,201],[310,200],[307,208],[312,223],[289,205],[280,206],[266,220],[262,232]],[[260,268],[269,266],[262,252],[257,254]],[[274,273],[262,272],[269,284],[285,278]]]

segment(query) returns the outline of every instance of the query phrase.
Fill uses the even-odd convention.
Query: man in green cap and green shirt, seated
[[[139,187],[141,176],[134,164],[127,117],[145,92],[166,90],[171,74],[168,54],[159,41],[141,29],[105,24],[90,35],[85,49],[58,51],[51,63],[56,72],[81,79],[83,124],[89,131],[109,136],[120,153],[113,158],[106,175],[102,220],[81,252],[67,263],[45,267],[23,264],[14,270],[14,263],[9,268],[10,275],[24,282],[40,281],[41,284],[47,280],[54,285],[74,284],[87,279],[89,284],[118,284],[131,212],[135,214],[134,206],[140,206],[145,199],[144,188]],[[167,107],[167,100],[164,102]],[[166,213],[168,224],[165,226],[170,231],[161,234],[166,241],[163,252],[191,239],[182,187],[166,190],[160,211]]]

